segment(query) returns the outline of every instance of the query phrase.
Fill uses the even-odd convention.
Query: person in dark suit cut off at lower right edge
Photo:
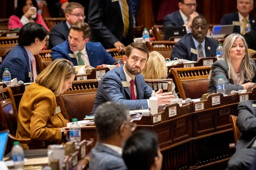
[[[236,119],[242,136],[236,142],[236,153],[231,157],[226,170],[248,170],[256,155],[256,101],[239,102]]]

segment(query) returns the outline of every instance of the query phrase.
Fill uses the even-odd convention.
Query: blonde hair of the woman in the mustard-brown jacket
[[[67,59],[56,59],[38,75],[35,82],[52,90],[55,96],[59,96],[63,82],[74,74],[76,68],[72,62]]]

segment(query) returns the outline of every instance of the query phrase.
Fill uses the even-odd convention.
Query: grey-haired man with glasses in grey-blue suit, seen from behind
[[[122,145],[135,130],[129,110],[116,102],[100,105],[94,116],[99,141],[91,150],[90,170],[127,170]]]

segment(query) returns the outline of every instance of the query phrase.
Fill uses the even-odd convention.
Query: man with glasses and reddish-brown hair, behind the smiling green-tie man
[[[80,3],[68,3],[65,9],[65,21],[61,21],[50,31],[49,49],[67,40],[70,26],[76,22],[84,22],[84,7]]]

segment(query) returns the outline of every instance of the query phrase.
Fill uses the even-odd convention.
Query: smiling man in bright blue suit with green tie
[[[89,41],[89,35],[90,28],[87,23],[77,22],[71,25],[68,40],[52,48],[52,61],[64,58],[74,65],[91,65],[94,68],[102,64],[119,66],[100,42]]]

